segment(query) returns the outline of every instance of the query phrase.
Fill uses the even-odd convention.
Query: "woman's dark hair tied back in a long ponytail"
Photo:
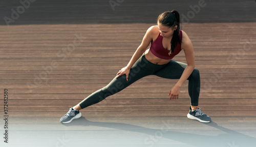
[[[179,37],[180,32],[180,14],[176,11],[166,11],[160,14],[157,18],[157,21],[165,26],[169,27],[175,27],[178,26],[177,29],[174,31],[174,35],[172,40],[170,41],[171,47],[170,47],[170,53],[172,54],[174,52],[174,49],[176,48],[177,44],[181,44],[181,40]]]

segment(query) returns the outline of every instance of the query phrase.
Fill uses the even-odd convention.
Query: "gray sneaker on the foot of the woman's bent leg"
[[[209,123],[211,121],[210,117],[203,113],[200,108],[196,109],[195,111],[189,110],[189,113],[187,114],[188,119],[191,120],[197,120],[202,123]]]

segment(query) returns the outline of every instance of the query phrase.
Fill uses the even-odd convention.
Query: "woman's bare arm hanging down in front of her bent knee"
[[[185,70],[183,71],[179,81],[175,84],[175,86],[170,90],[170,100],[171,99],[178,99],[179,93],[180,93],[180,87],[181,85],[187,80],[187,78],[190,76],[190,74],[195,69],[195,54],[194,54],[194,48],[191,40],[187,36],[185,32],[182,31],[182,43],[181,47],[184,50],[187,66]]]

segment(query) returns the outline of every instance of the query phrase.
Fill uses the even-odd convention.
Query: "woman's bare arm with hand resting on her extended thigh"
[[[138,58],[146,51],[148,45],[150,45],[150,43],[151,43],[151,41],[153,39],[154,27],[155,26],[151,26],[150,28],[148,28],[148,30],[146,31],[146,34],[144,35],[144,37],[142,39],[142,42],[141,42],[140,46],[137,48],[137,50],[133,54],[130,62],[127,64],[126,67],[124,67],[121,70],[119,70],[119,72],[117,73],[116,78],[118,78],[121,75],[125,74],[126,75],[126,80],[128,80],[130,69],[132,68],[134,63],[138,60]]]

